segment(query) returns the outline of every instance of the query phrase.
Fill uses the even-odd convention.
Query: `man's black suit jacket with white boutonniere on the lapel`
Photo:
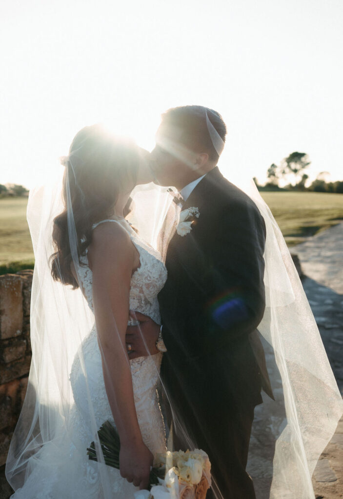
[[[238,408],[262,402],[250,336],[265,309],[266,238],[254,202],[217,167],[182,209],[189,207],[200,216],[189,234],[172,237],[168,279],[159,294],[168,349],[161,373],[174,409],[188,422],[199,413],[206,419],[207,411],[214,420],[218,411],[230,418]]]

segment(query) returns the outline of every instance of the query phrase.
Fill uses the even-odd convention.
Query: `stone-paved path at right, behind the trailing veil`
[[[343,394],[343,223],[309,238],[305,243],[292,248],[292,253],[299,256],[305,274],[302,279],[304,290]],[[268,347],[266,357],[268,361]],[[251,439],[251,448],[256,446],[255,449],[260,452],[259,462],[250,460],[248,463],[257,499],[269,498],[272,477],[271,457],[274,453],[275,431],[272,429],[270,438],[267,436],[266,439],[266,430],[259,428],[260,412],[268,411],[270,403],[273,402],[266,397],[264,404],[256,408]],[[273,410],[275,411],[275,405]],[[282,421],[284,415],[281,409],[279,412],[276,416]],[[343,498],[343,418],[319,460],[313,476],[313,486],[316,499]]]

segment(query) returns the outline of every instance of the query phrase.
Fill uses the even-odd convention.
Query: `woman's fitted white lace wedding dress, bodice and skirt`
[[[116,222],[125,227],[139,252],[140,266],[131,278],[130,309],[160,323],[157,295],[167,279],[167,270],[159,253],[140,240],[123,219],[99,223],[103,222]],[[80,263],[83,292],[93,311],[92,271],[87,255],[81,257]],[[32,473],[24,486],[11,496],[13,499],[133,499],[138,490],[121,478],[118,470],[88,459],[87,447],[94,440],[92,421],[96,421],[96,430],[106,420],[113,425],[114,421],[105,391],[95,324],[80,348],[81,355],[75,356],[70,373],[74,405],[70,409],[69,430],[57,439],[57,445],[54,439],[43,445],[38,456],[32,457],[38,458],[38,462],[33,463]],[[153,454],[166,450],[157,395],[161,361],[161,353],[130,361],[138,423],[143,441]]]

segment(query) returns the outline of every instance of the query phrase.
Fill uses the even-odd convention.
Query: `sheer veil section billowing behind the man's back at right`
[[[206,120],[220,154],[224,143],[207,111]],[[282,233],[254,181],[236,185],[254,201],[266,224],[266,309],[258,330],[275,397],[263,394],[264,403],[255,408],[248,469],[257,480],[261,473],[270,474],[270,499],[313,499],[311,477],[337,428],[343,401]],[[273,463],[263,450],[271,442]]]

